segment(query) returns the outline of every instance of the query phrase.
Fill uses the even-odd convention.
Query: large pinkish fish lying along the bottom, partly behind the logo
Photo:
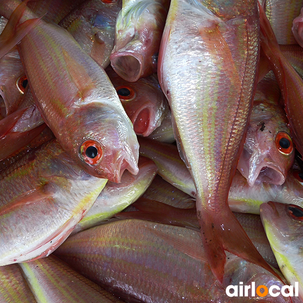
[[[252,302],[261,297],[229,298],[226,287],[239,281],[283,285],[262,267],[227,254],[220,284],[207,264],[199,232],[142,220],[90,228],[69,237],[55,251],[97,284],[110,287],[122,298],[124,293],[143,302]],[[263,300],[290,302],[282,295],[267,295]]]

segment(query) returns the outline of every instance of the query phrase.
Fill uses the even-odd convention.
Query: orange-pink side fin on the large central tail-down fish
[[[230,48],[219,30],[218,24],[214,22],[209,27],[200,27],[199,33],[210,49],[213,61],[222,64],[222,70],[237,89],[241,88],[241,81],[236,65],[231,55]]]

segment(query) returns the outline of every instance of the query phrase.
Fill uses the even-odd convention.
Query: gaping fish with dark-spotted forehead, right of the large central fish
[[[294,160],[287,117],[279,105],[280,89],[269,73],[258,83],[246,139],[237,169],[250,186],[282,185]]]

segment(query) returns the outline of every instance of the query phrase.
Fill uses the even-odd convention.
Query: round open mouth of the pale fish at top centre
[[[129,52],[119,52],[111,55],[111,65],[121,78],[135,82],[142,76],[143,57]]]

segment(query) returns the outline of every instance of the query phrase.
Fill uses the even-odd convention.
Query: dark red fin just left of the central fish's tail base
[[[137,212],[122,212],[117,214],[118,218],[132,218],[169,224],[180,227],[189,227],[199,230],[196,209],[180,209],[159,201],[139,198],[134,206]]]

